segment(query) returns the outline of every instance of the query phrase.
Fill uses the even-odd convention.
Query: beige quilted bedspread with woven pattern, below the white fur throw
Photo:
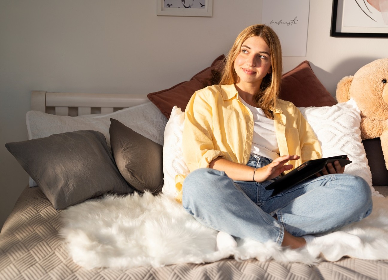
[[[335,263],[284,264],[223,259],[162,268],[86,270],[73,263],[59,236],[61,211],[39,187],[27,187],[0,233],[0,280],[10,279],[388,279],[388,261],[343,258]]]

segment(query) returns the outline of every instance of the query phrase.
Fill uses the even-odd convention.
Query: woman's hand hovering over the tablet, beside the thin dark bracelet
[[[254,180],[256,182],[261,183],[263,181],[276,178],[284,171],[290,170],[291,168],[293,168],[292,164],[286,164],[286,162],[293,161],[299,158],[300,156],[296,156],[296,155],[286,155],[286,156],[277,157],[270,164],[263,166],[262,168],[258,168],[255,172]]]

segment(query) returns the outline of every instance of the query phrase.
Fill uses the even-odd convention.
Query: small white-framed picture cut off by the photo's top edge
[[[213,16],[213,0],[157,0],[158,16]]]

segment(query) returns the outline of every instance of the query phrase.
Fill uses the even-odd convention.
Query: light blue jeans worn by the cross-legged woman
[[[247,165],[260,168],[270,162],[251,155]],[[297,237],[331,232],[372,211],[371,189],[359,176],[307,179],[270,197],[272,190],[265,187],[272,181],[233,181],[223,171],[200,168],[185,178],[182,203],[205,226],[237,238],[278,244],[284,230]]]

